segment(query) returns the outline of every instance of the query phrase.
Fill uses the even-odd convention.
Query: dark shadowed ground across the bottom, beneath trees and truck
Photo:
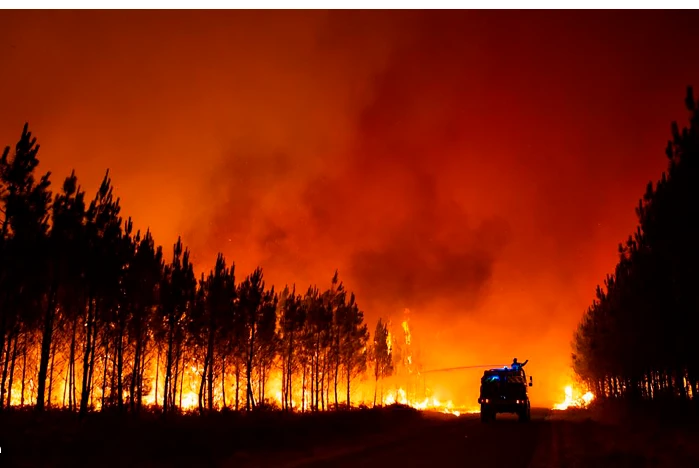
[[[140,418],[0,414],[0,466],[690,467],[696,418],[533,410],[530,423],[482,424],[406,408],[316,415]]]

